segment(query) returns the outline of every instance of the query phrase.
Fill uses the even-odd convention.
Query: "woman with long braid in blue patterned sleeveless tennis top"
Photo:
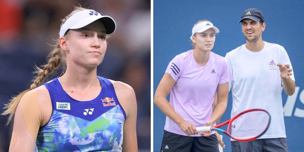
[[[137,151],[133,88],[96,71],[114,19],[75,7],[62,21],[48,63],[2,113],[9,114],[8,123],[15,113],[9,150]],[[60,64],[64,74],[41,84]]]

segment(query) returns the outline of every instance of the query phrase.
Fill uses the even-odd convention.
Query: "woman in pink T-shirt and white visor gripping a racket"
[[[232,76],[225,58],[211,52],[216,33],[219,29],[210,21],[197,22],[190,37],[193,49],[171,60],[156,89],[154,103],[167,116],[163,152],[219,151],[215,132],[199,134],[195,129],[213,125],[227,106]],[[217,105],[212,113],[216,90]]]

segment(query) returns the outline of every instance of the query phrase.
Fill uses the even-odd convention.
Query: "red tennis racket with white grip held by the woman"
[[[270,125],[270,114],[264,109],[249,109],[216,126],[196,127],[198,132],[220,131],[237,141],[252,141],[262,136]],[[227,131],[219,127],[228,124]]]

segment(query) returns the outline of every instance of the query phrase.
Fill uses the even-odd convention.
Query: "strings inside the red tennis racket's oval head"
[[[265,111],[250,111],[231,122],[228,133],[237,139],[248,139],[263,133],[268,126],[269,115]]]

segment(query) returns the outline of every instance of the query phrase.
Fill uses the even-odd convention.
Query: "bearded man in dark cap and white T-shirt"
[[[229,82],[233,106],[231,118],[253,108],[271,115],[267,132],[257,140],[238,142],[231,139],[231,151],[287,152],[281,84],[287,95],[295,92],[292,65],[284,47],[262,40],[264,15],[259,9],[247,9],[241,20],[246,44],[226,54],[233,80]]]

